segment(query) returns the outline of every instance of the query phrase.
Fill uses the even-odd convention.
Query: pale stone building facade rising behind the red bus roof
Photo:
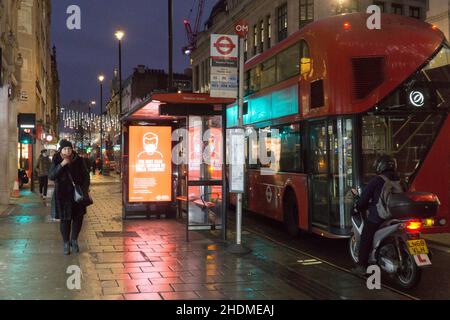
[[[426,18],[428,9],[428,0],[219,0],[191,54],[193,91],[209,92],[211,34],[234,34],[234,24],[239,19],[249,24],[245,58],[250,59],[308,23],[336,14],[366,11],[373,4],[383,12],[421,20]]]

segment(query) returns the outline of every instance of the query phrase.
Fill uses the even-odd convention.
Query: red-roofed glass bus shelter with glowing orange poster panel
[[[159,93],[122,118],[123,218],[177,217],[226,235],[226,106],[233,99]]]

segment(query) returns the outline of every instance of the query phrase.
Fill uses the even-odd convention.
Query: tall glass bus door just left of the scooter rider
[[[309,173],[312,227],[336,235],[350,231],[354,177],[353,118],[311,122]]]

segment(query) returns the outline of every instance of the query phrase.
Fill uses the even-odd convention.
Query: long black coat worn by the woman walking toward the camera
[[[52,197],[52,218],[71,220],[74,217],[86,214],[86,207],[73,200],[74,188],[68,173],[70,172],[75,184],[81,186],[84,192],[89,191],[90,177],[83,158],[75,152],[72,154],[72,162],[69,165],[62,167],[62,161],[61,154],[55,154],[49,172],[50,180],[55,181],[55,191]]]

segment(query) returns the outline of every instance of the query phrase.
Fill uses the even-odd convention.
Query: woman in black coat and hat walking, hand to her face
[[[89,170],[84,160],[73,151],[72,143],[61,140],[59,152],[53,157],[50,167],[50,180],[55,181],[52,197],[52,218],[60,219],[60,231],[64,241],[64,254],[79,252],[78,236],[86,214],[86,205],[75,202],[73,184],[89,191]]]

